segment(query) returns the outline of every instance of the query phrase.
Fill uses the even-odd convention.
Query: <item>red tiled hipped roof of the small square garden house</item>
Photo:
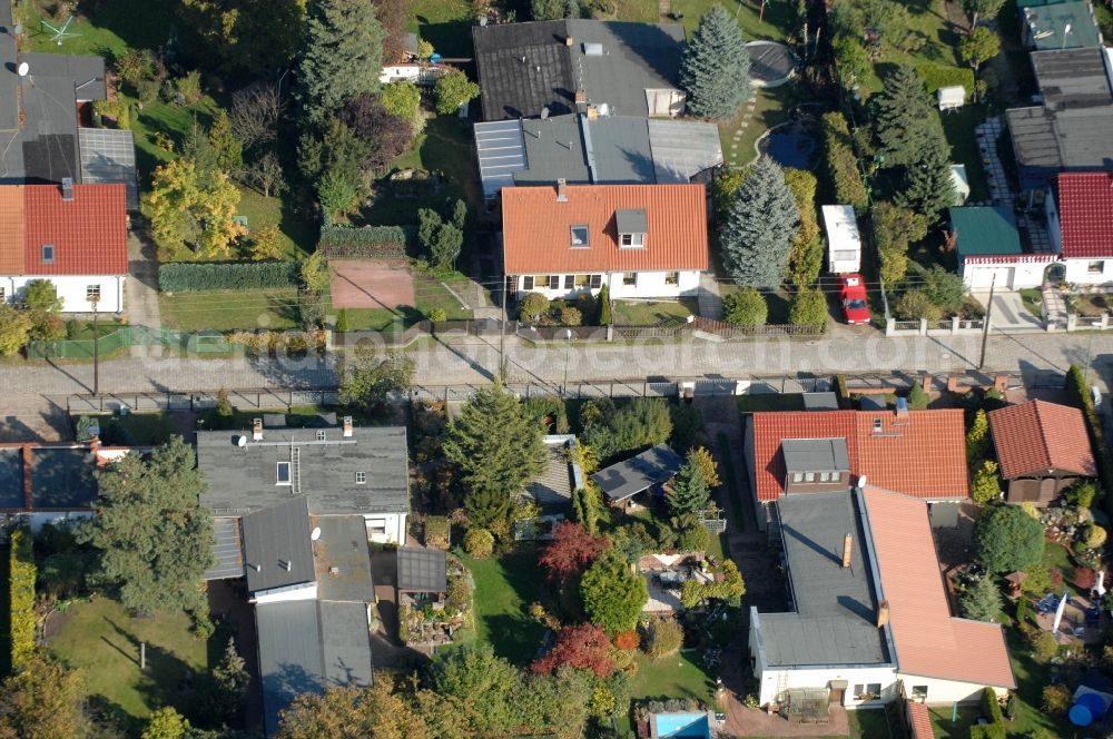
[[[1012,405],[989,414],[989,428],[1005,480],[1047,470],[1097,474],[1078,408],[1046,401]]]

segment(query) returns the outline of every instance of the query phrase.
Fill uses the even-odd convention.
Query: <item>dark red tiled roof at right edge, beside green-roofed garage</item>
[[[1058,176],[1064,257],[1113,256],[1113,178],[1107,173]]]

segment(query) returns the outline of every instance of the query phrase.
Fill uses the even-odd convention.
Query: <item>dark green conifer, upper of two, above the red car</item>
[[[885,78],[877,99],[877,138],[886,166],[907,167],[943,140],[943,124],[924,80],[912,67],[902,65]]]

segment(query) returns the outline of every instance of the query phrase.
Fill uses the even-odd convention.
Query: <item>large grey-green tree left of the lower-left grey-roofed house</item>
[[[149,459],[128,454],[97,474],[96,515],[78,540],[100,550],[100,582],[142,613],[185,609],[207,618],[201,575],[213,564],[213,518],[194,450],[171,436]]]

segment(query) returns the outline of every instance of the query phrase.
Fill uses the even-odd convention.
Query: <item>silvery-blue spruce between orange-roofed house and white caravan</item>
[[[727,272],[739,285],[777,287],[799,225],[799,209],[780,167],[758,159],[738,188],[719,235]]]

